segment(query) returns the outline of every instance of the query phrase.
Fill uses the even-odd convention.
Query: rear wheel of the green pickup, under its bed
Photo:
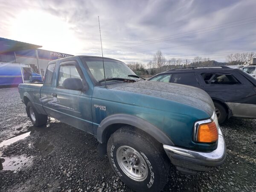
[[[26,112],[34,126],[40,127],[46,125],[48,116],[38,113],[31,102],[27,103]],[[32,112],[34,112],[34,114]]]

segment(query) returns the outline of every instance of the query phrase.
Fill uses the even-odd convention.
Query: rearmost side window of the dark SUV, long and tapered
[[[231,74],[202,73],[201,76],[206,84],[241,84]]]

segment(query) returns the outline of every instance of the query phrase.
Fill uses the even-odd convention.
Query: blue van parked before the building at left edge
[[[42,76],[35,73],[28,64],[0,62],[0,86],[38,83],[42,80]]]

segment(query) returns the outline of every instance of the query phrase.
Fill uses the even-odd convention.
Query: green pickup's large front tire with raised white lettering
[[[135,154],[131,154],[130,157],[136,157],[137,154],[137,159],[140,160],[137,161],[136,163],[140,167],[142,164],[144,164],[145,166],[143,168],[146,167],[147,174],[143,175],[142,169],[140,169],[140,171],[137,171],[137,168],[134,169],[133,167],[131,167],[128,164],[131,163],[131,159],[128,159],[129,157],[126,161],[127,164],[123,163],[123,167],[125,168],[120,167],[122,163],[118,163],[117,156],[118,154],[123,154],[121,153],[123,149],[120,149],[123,147],[128,147],[136,150],[135,152],[131,152],[132,150],[125,150],[124,155],[128,155],[128,153],[131,152]],[[168,157],[166,156],[166,153],[163,150],[163,145],[154,140],[154,138],[145,134],[143,131],[134,129],[129,126],[125,126],[118,129],[111,135],[110,139],[108,140],[107,152],[108,160],[114,172],[131,189],[139,192],[157,192],[161,191],[165,186],[169,176],[170,162],[167,160]],[[120,158],[122,158],[122,156],[120,156]],[[125,157],[122,158],[122,162],[125,161],[124,158]],[[119,160],[119,162],[120,161],[121,160]],[[136,163],[134,163],[135,166]],[[134,180],[134,178],[129,177],[123,171],[124,169],[128,169],[129,172],[129,167],[126,168],[126,165],[127,167],[129,166],[132,168],[130,172],[132,172],[134,169],[133,172],[141,174],[141,177],[144,177],[144,180],[138,181]],[[144,173],[145,172],[146,171],[144,170]]]

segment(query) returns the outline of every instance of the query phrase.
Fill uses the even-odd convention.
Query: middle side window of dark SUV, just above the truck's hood
[[[198,86],[198,81],[194,73],[175,73],[172,74],[171,83],[186,84],[190,86]]]

